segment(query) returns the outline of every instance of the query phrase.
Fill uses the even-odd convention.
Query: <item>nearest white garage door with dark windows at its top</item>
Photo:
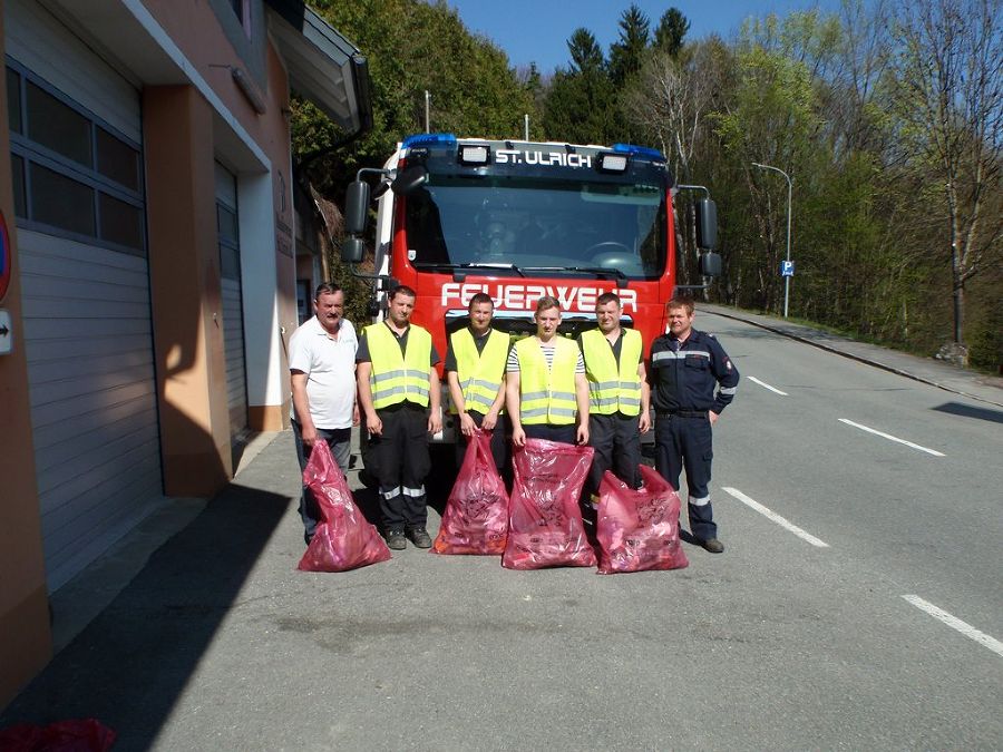
[[[49,589],[163,499],[139,94],[36,2],[4,6]]]

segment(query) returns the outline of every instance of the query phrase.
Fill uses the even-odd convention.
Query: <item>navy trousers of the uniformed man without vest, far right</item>
[[[686,471],[686,507],[690,533],[699,540],[718,537],[710,502],[710,468],[714,457],[710,419],[707,413],[655,416],[655,469],[679,490],[679,476]]]

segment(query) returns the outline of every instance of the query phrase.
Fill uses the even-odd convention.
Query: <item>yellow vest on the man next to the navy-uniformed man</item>
[[[585,357],[585,378],[588,379],[588,414],[641,414],[641,332],[623,330],[620,362],[613,348],[598,329],[582,333],[582,354]]]

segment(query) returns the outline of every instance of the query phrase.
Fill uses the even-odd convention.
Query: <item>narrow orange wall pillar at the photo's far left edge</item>
[[[0,3],[2,8],[2,3]],[[0,12],[0,57],[3,55]],[[0,707],[38,673],[52,652],[41,518],[35,481],[28,365],[18,282],[18,235],[10,176],[7,79],[0,80],[0,211],[11,244],[11,282],[0,309],[12,320],[13,351],[0,355]]]

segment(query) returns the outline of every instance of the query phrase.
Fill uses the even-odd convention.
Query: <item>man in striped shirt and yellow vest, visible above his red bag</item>
[[[512,441],[526,439],[588,443],[588,384],[582,352],[561,336],[561,304],[551,295],[536,303],[536,336],[515,343],[508,353],[506,407]]]

